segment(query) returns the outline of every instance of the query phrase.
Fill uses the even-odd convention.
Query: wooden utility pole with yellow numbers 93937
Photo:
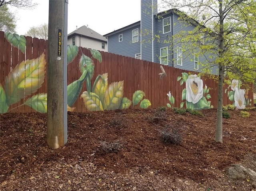
[[[49,0],[47,143],[53,149],[67,142],[67,16],[68,0]]]

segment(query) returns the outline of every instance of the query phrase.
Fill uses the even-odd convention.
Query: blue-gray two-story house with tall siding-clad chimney
[[[205,58],[196,52],[188,58],[182,53],[180,43],[171,43],[172,35],[193,30],[198,25],[195,20],[190,25],[181,24],[178,12],[171,9],[158,13],[157,0],[141,0],[141,21],[104,35],[108,38],[108,52],[200,71],[198,63],[205,62]]]

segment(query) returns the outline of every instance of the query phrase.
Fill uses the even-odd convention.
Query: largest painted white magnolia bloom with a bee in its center
[[[196,74],[189,75],[186,81],[186,100],[188,102],[197,103],[204,94],[203,81]]]

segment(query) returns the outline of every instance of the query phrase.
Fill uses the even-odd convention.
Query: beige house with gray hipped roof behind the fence
[[[77,45],[107,52],[107,43],[106,37],[88,28],[88,26],[82,26],[68,34],[68,45]]]

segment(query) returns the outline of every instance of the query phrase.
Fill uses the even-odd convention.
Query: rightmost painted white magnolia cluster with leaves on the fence
[[[225,89],[228,92],[228,99],[233,102],[233,105],[238,109],[244,109],[251,105],[252,99],[248,98],[249,89],[240,89],[242,83],[236,79],[228,82],[230,85]]]

